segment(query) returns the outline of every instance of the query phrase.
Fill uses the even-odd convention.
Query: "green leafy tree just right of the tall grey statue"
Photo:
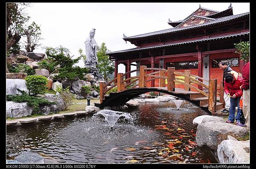
[[[103,75],[104,80],[108,81],[108,75],[112,74],[115,71],[115,65],[113,61],[109,60],[109,56],[106,55],[108,49],[104,42],[98,48],[97,57],[98,57],[98,64],[96,67],[99,69],[99,73]]]

